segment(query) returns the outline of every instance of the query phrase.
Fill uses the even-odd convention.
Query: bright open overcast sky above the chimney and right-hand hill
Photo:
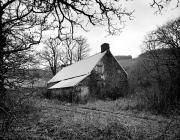
[[[126,23],[123,32],[118,36],[109,36],[102,28],[92,28],[89,32],[83,33],[88,40],[91,54],[100,52],[100,45],[104,42],[110,44],[111,52],[114,55],[132,55],[137,57],[141,53],[141,44],[146,35],[167,21],[180,16],[180,8],[174,8],[172,4],[163,14],[154,14],[155,9],[149,6],[150,0],[128,1],[127,9],[134,9],[134,18]],[[157,10],[157,9],[156,9]]]

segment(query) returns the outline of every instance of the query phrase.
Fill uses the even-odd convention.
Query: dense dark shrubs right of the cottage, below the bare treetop
[[[145,56],[150,57],[147,54]],[[151,57],[145,59],[145,56],[137,59],[136,65],[129,74],[130,93],[141,94],[137,97],[139,100],[137,108],[153,110],[157,113],[167,112],[172,106],[177,108],[179,87],[177,83],[173,84],[174,77],[171,77],[166,66],[161,65],[160,60],[155,61]],[[165,58],[165,54],[162,53],[162,56]],[[172,71],[174,74],[177,73],[175,69]]]

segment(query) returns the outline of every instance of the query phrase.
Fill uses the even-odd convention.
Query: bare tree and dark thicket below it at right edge
[[[153,89],[151,103],[157,109],[177,105],[180,101],[180,18],[149,33],[143,49],[144,54],[132,72],[136,83]]]

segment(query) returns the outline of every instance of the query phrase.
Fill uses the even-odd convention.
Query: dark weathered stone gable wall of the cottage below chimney
[[[127,94],[127,74],[110,51],[107,51],[106,55],[96,65],[94,70],[100,74],[101,79],[104,81],[104,87],[107,88],[109,92],[116,89],[117,94],[121,94],[122,96]]]

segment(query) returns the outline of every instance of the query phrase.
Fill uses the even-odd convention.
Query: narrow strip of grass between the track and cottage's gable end
[[[78,105],[82,108],[89,108],[92,110],[109,111],[116,114],[125,114],[136,116],[139,118],[164,120],[165,116],[154,114],[150,111],[144,110],[139,106],[136,99],[133,98],[120,98],[115,101],[97,100],[95,102],[88,102],[84,105]]]

